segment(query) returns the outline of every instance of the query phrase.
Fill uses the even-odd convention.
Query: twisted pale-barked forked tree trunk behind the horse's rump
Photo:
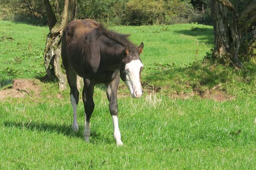
[[[48,26],[44,64],[48,77],[58,79],[59,90],[64,90],[67,84],[66,75],[61,71],[61,37],[64,28],[75,19],[76,0],[65,0],[62,16],[59,15],[58,0],[44,0],[47,8]]]

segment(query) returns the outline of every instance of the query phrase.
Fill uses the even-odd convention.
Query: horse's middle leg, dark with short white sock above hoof
[[[83,79],[83,106],[85,110],[85,123],[84,123],[84,131],[83,137],[84,140],[89,142],[89,136],[91,134],[90,129],[90,119],[94,110],[94,101],[93,101],[93,92],[94,92],[94,84],[93,80]]]

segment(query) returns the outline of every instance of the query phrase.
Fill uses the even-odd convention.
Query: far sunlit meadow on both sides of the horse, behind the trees
[[[191,31],[192,27],[203,31]],[[210,26],[182,24],[174,26],[111,27],[120,33],[130,33],[135,44],[144,42],[141,59],[145,67],[158,64],[186,64],[200,60],[213,42]],[[0,22],[0,79],[10,82],[15,77],[36,77],[45,74],[43,52],[48,27]]]

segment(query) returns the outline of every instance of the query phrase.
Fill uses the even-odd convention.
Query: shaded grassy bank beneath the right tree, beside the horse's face
[[[186,91],[188,88],[200,92],[206,88],[211,89],[220,83],[237,82],[237,85],[239,82],[253,83],[256,64],[245,63],[243,69],[236,70],[228,66],[210,62],[204,64],[202,61],[198,61],[185,66],[167,65],[153,69],[143,77],[145,82],[156,86],[161,84],[161,88],[174,88],[178,93]]]

